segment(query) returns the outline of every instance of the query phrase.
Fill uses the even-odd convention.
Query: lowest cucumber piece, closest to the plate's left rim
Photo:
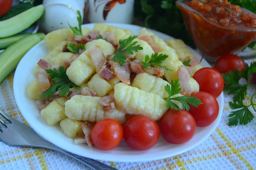
[[[28,35],[10,45],[0,54],[0,84],[17,67],[26,52],[41,39],[36,34]]]

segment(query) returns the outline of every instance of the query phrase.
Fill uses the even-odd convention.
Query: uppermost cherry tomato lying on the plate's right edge
[[[199,84],[199,91],[208,92],[217,98],[224,88],[224,79],[220,72],[213,68],[197,70],[193,78]]]

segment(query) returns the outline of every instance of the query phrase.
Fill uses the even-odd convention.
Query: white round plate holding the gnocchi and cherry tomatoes
[[[133,31],[135,35],[139,34],[139,31],[142,28],[130,24],[108,24],[121,28],[129,28]],[[83,26],[92,29],[94,23],[85,24]],[[153,33],[160,38],[163,38],[164,40],[167,38],[172,38],[166,34],[157,31],[153,31]],[[191,49],[191,51],[194,53],[194,55],[200,56],[194,50]],[[169,144],[168,142],[164,141],[160,135],[157,144],[153,148],[146,151],[135,151],[133,149],[130,149],[124,141],[122,141],[117,148],[110,151],[103,151],[97,149],[96,147],[91,150],[86,144],[75,144],[73,139],[65,136],[59,124],[55,126],[49,126],[46,121],[41,117],[39,110],[36,108],[35,100],[29,99],[27,97],[27,93],[25,90],[26,85],[28,84],[28,82],[36,78],[36,76],[34,75],[34,67],[36,66],[36,63],[39,61],[39,59],[45,57],[47,54],[47,46],[42,40],[32,49],[30,49],[27,54],[21,59],[14,75],[13,90],[15,100],[24,118],[38,134],[43,136],[48,141],[54,143],[55,145],[72,153],[97,160],[116,162],[139,162],[158,160],[178,155],[196,147],[207,137],[209,137],[211,133],[213,133],[214,129],[217,127],[218,122],[221,119],[224,103],[223,93],[220,95],[220,97],[217,98],[218,104],[220,106],[220,111],[218,113],[217,119],[208,127],[197,127],[194,137],[186,143],[178,145]],[[210,67],[210,65],[204,59],[202,61],[202,65],[204,67]]]

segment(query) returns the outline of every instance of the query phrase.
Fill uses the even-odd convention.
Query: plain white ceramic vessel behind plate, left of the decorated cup
[[[43,0],[45,13],[40,20],[40,27],[47,33],[61,28],[78,26],[76,17],[80,11],[83,20],[85,0]]]

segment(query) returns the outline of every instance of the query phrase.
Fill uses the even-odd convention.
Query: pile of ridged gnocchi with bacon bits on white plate
[[[128,64],[121,67],[112,58],[120,47],[119,41],[134,35],[130,29],[96,23],[92,31],[86,27],[82,28],[82,34],[83,37],[74,36],[71,29],[60,29],[47,34],[45,43],[49,54],[43,58],[43,63],[38,63],[34,70],[37,75],[38,70],[42,68],[44,70],[58,69],[59,66],[64,66],[67,68],[68,79],[80,86],[80,89],[70,87],[69,93],[65,96],[60,96],[56,91],[49,99],[42,99],[41,96],[45,91],[40,88],[39,79],[36,78],[27,84],[28,97],[39,101],[37,102],[41,104],[38,106],[40,114],[48,125],[54,126],[60,123],[64,134],[75,138],[85,135],[81,126],[81,123],[85,121],[98,122],[103,119],[115,119],[123,124],[127,118],[134,115],[145,115],[153,120],[159,120],[168,110],[164,100],[168,97],[168,93],[164,87],[170,85],[171,80],[178,78],[178,69],[184,66],[180,59],[193,56],[186,45],[180,40],[166,40],[165,42],[143,28],[139,36],[146,35],[151,38],[152,42],[140,37],[135,38],[133,42],[137,41],[136,45],[140,45],[143,49],[134,51],[134,55],[127,56]],[[98,39],[93,34],[107,35],[107,38]],[[76,45],[79,41],[84,41],[85,50],[79,50],[79,54],[74,54],[66,49],[67,41],[76,43]],[[96,69],[99,63],[95,63],[99,56],[94,56],[90,52],[95,49],[95,46],[101,50],[103,61],[105,61],[101,69]],[[141,65],[146,55],[151,57],[156,52],[168,55],[161,65],[169,70],[162,70],[164,72],[162,77],[143,71],[145,68]],[[65,62],[69,64],[66,65]],[[201,64],[191,66],[191,68],[194,73],[201,68]],[[127,85],[123,77],[128,76],[130,81],[132,72],[136,73],[136,76],[133,80],[131,79],[131,84]],[[45,81],[49,81],[46,73]],[[54,82],[50,83],[54,84]],[[199,85],[195,79],[189,77],[189,84],[192,92],[199,91]],[[178,96],[183,96],[183,94],[179,93],[173,97]],[[173,102],[181,107],[180,102]]]

